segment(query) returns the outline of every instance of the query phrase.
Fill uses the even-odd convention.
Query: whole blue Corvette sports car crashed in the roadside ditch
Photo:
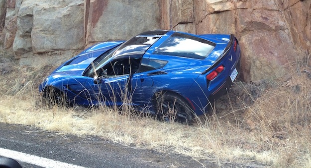
[[[56,103],[130,105],[189,122],[232,86],[239,59],[233,35],[151,30],[86,49],[56,68],[39,91]]]

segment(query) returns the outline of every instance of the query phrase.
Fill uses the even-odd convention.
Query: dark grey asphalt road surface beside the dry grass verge
[[[87,168],[219,167],[173,152],[137,149],[100,137],[78,137],[30,126],[0,123],[0,148]],[[23,168],[40,168],[21,163]]]

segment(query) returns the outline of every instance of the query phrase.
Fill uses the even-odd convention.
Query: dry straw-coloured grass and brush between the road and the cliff
[[[18,66],[0,49],[0,122],[94,135],[137,148],[175,151],[222,164],[311,167],[310,55],[291,62],[286,79],[236,81],[211,112],[186,125],[124,108],[51,106],[38,85],[55,68]]]

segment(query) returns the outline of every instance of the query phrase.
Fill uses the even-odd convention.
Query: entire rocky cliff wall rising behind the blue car
[[[283,77],[311,53],[311,0],[0,0],[0,39],[20,64],[59,63],[150,29],[235,34],[242,77]]]

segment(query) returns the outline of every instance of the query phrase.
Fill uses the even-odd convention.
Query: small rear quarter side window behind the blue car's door
[[[154,69],[160,69],[167,64],[166,60],[158,60],[158,59],[145,59],[141,60],[140,72],[146,72]]]

